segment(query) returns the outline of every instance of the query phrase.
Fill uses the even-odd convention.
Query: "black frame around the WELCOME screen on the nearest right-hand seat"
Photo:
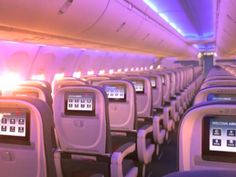
[[[222,115],[208,115],[202,119],[202,159],[206,161],[217,161],[217,162],[236,162],[236,153],[235,152],[224,152],[224,151],[212,151],[209,150],[209,139],[210,139],[210,120],[219,119],[219,118],[232,118],[232,116]],[[236,122],[236,120],[235,120]]]

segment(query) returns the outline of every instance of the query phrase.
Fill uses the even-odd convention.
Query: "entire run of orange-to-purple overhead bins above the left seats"
[[[150,9],[143,1],[129,1],[1,0],[0,37],[12,39],[9,34],[14,34],[13,39],[18,41],[155,55],[196,55],[195,50],[185,50],[188,45],[181,38],[160,25],[160,17],[148,17]],[[163,47],[163,41],[168,45]]]

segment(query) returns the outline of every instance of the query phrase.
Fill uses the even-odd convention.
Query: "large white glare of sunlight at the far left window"
[[[16,86],[22,81],[20,75],[14,72],[6,72],[0,76],[0,89],[3,95],[8,95],[11,90],[15,89]]]

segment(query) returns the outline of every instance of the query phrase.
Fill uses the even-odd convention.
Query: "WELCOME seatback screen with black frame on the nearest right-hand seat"
[[[203,121],[203,159],[236,161],[235,117],[205,117]]]

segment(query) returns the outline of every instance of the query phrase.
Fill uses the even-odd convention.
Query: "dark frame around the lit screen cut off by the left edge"
[[[30,111],[27,109],[20,108],[0,108],[0,112],[19,112],[25,113],[26,124],[25,124],[25,137],[11,136],[11,135],[0,135],[0,143],[6,144],[17,144],[17,145],[30,145]]]

